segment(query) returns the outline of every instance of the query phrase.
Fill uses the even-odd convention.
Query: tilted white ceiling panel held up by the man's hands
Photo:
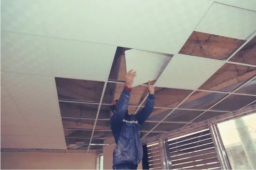
[[[156,80],[171,59],[171,55],[137,49],[126,50],[126,72],[130,69],[137,71],[132,87],[146,83],[149,80]]]

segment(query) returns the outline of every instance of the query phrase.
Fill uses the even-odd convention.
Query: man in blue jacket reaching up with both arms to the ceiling
[[[148,99],[145,107],[135,115],[128,113],[131,86],[136,71],[130,70],[125,76],[125,86],[119,100],[111,105],[114,113],[110,118],[110,127],[115,138],[116,148],[113,153],[113,169],[136,170],[142,160],[143,150],[140,141],[140,129],[152,113],[155,103],[154,87],[148,82]]]

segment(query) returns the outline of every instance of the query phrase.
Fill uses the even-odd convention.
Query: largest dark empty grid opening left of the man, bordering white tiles
[[[104,82],[55,77],[59,99],[100,102]]]

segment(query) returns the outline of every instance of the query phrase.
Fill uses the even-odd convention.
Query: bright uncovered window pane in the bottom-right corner
[[[218,124],[232,169],[256,169],[256,114]]]

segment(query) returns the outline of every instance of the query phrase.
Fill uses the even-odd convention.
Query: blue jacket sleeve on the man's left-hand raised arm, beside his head
[[[115,113],[112,115],[110,118],[110,126],[111,125],[118,125],[120,124],[126,114],[127,108],[128,108],[128,103],[130,99],[130,91],[128,87],[124,86],[124,90],[122,91],[119,100],[116,104],[116,110]]]

